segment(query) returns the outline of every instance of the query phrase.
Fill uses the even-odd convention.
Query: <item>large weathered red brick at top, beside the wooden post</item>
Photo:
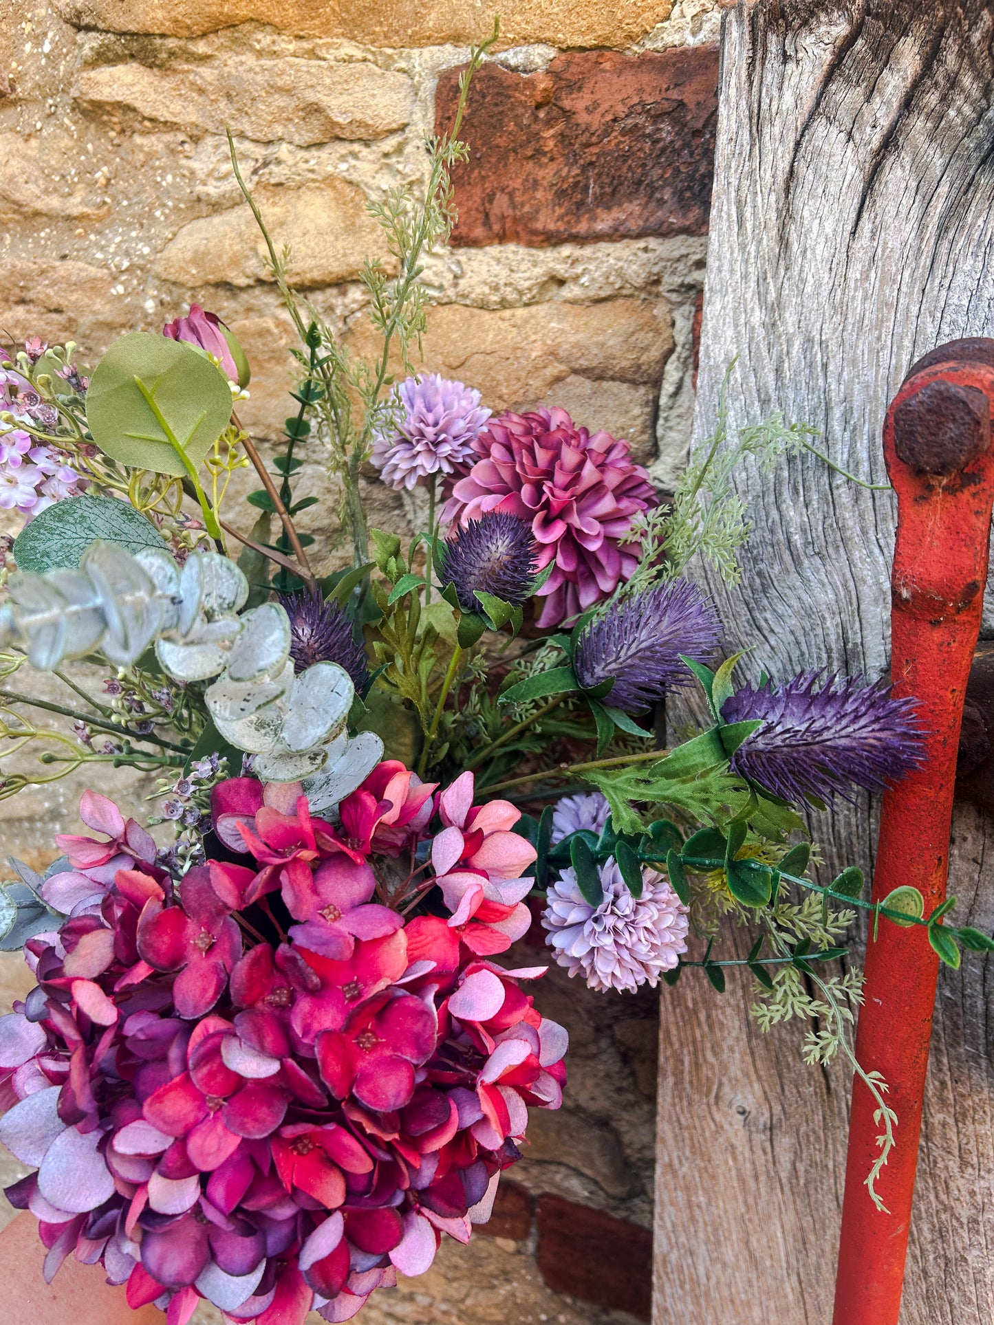
[[[453,171],[457,245],[702,235],[714,158],[718,54],[557,56],[534,74],[477,70],[463,121],[469,162]],[[439,80],[447,131],[459,70]]]

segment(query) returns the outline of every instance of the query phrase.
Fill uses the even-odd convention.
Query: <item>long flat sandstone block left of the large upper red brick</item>
[[[80,74],[78,101],[127,106],[147,119],[300,147],[334,138],[376,139],[411,119],[414,86],[368,62],[250,60],[223,64],[103,65]]]

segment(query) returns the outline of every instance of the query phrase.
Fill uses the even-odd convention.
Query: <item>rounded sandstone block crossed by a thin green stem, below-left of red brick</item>
[[[256,201],[277,252],[290,245],[298,289],[355,280],[367,253],[382,252],[382,231],[360,189],[341,179],[305,188],[258,188]],[[272,281],[266,248],[247,205],[190,221],[159,254],[155,274],[193,289]]]

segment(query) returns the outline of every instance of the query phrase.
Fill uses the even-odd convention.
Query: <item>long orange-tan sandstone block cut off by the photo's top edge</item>
[[[239,23],[372,46],[468,45],[489,32],[478,0],[54,0],[77,28],[199,37]],[[501,46],[627,48],[663,23],[672,0],[506,0]]]

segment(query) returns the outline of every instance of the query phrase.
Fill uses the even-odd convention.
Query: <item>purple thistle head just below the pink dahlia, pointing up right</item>
[[[702,662],[717,647],[718,619],[696,584],[672,580],[611,606],[582,632],[573,665],[584,690],[614,681],[606,704],[644,713],[693,680],[680,655]]]

